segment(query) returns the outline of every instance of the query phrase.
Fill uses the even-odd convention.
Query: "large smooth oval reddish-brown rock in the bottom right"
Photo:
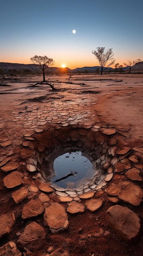
[[[127,242],[136,240],[141,228],[140,219],[136,213],[122,207],[114,205],[106,211],[106,218],[109,226],[117,233],[118,236]]]

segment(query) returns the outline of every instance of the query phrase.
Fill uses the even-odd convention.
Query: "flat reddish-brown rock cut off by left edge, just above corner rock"
[[[15,225],[14,213],[6,213],[0,216],[0,238],[8,236]]]

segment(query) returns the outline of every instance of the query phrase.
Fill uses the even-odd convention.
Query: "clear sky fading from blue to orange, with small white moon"
[[[55,67],[96,66],[97,47],[120,65],[143,60],[142,12],[143,0],[0,0],[0,62],[46,55]]]

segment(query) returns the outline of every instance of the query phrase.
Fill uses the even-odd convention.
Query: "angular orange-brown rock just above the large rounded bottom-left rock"
[[[43,213],[44,207],[39,199],[31,199],[22,209],[22,219],[35,217]]]

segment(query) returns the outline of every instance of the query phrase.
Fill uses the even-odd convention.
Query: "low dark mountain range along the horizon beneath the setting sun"
[[[120,71],[121,69],[118,69]],[[129,67],[123,67],[122,72],[126,72],[129,70]],[[103,72],[115,72],[117,69],[108,67]],[[35,64],[20,64],[20,63],[7,63],[7,62],[0,62],[0,72],[4,72],[4,74],[40,74],[42,70],[40,70],[39,65]],[[77,67],[71,70],[68,67],[47,67],[45,70],[46,73],[57,73],[57,74],[64,74],[64,73],[90,73],[90,72],[101,72],[100,66],[94,67]],[[136,63],[133,67],[131,72],[143,72],[143,61]]]

